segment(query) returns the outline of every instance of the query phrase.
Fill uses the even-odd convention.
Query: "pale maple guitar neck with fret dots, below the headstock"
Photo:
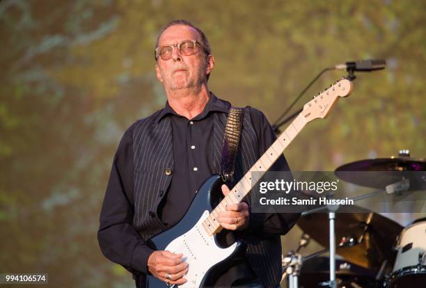
[[[230,193],[213,209],[212,213],[205,219],[203,226],[209,234],[215,234],[221,231],[222,226],[217,221],[219,213],[226,211],[228,205],[237,204],[250,193],[253,186],[264,175],[275,161],[283,154],[285,148],[290,145],[293,139],[305,127],[306,120],[300,113],[296,119],[281,133],[276,141],[268,148],[268,150],[260,157],[260,159],[247,171],[241,180],[232,188]],[[256,172],[253,174],[253,172]],[[252,175],[256,175],[257,179],[252,179]]]

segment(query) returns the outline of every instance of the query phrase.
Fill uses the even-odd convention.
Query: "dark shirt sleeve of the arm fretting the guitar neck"
[[[258,134],[260,155],[274,143],[276,136],[269,122],[261,111],[248,107],[253,127]],[[282,154],[269,169],[271,171],[290,171],[290,167]],[[299,219],[299,213],[250,213],[248,230],[259,237],[286,234]]]

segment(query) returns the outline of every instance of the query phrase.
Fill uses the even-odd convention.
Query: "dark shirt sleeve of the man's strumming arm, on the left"
[[[153,250],[148,248],[132,225],[134,217],[132,134],[132,127],[125,131],[114,156],[100,214],[97,239],[105,257],[134,274],[146,274],[148,257]]]

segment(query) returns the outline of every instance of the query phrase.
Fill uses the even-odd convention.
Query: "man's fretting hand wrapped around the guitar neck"
[[[228,195],[229,188],[225,184],[222,185],[223,195]],[[217,219],[222,227],[228,230],[242,231],[248,227],[250,217],[248,216],[248,204],[239,202],[238,204],[228,205],[225,212],[219,213]]]

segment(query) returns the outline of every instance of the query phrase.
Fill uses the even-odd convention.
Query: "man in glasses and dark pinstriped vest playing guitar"
[[[135,122],[120,141],[100,217],[102,253],[133,273],[136,287],[146,275],[171,285],[187,280],[182,255],[155,251],[146,241],[178,223],[198,187],[219,173],[223,131],[230,104],[214,96],[207,80],[214,56],[203,31],[185,20],[170,22],[157,38],[157,78],[167,95],[164,109]],[[274,142],[260,111],[247,107],[234,184]],[[284,157],[272,170],[288,170]],[[222,192],[229,192],[222,186]],[[249,203],[249,200],[248,200]],[[214,287],[277,287],[281,241],[297,220],[294,214],[252,214],[247,202],[230,205],[218,218],[229,241],[245,249],[213,280]]]

